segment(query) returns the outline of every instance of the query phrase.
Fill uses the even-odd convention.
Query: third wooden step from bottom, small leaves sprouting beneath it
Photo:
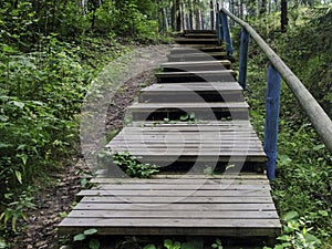
[[[248,120],[248,104],[243,102],[196,103],[134,103],[129,106],[133,121],[179,121],[181,116],[195,114],[198,121],[221,118]]]

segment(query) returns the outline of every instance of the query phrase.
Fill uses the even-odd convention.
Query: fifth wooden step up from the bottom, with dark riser
[[[188,72],[159,72],[156,73],[158,83],[181,82],[232,82],[236,72],[232,70],[218,71],[188,71]]]

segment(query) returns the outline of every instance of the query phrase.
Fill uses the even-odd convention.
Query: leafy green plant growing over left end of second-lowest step
[[[128,152],[113,153],[113,163],[118,165],[128,176],[137,178],[149,178],[159,172],[159,167],[154,164],[144,164],[138,162],[136,156]]]

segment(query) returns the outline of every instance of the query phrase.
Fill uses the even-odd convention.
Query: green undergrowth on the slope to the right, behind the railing
[[[312,19],[305,19],[305,25],[292,27],[286,34],[278,33],[272,20],[263,25],[257,21],[253,25],[331,116],[332,71],[328,66],[331,53],[322,51],[332,48],[332,43],[326,42],[331,35],[325,35],[326,29],[331,29],[332,14],[331,10],[310,10],[307,14]],[[264,33],[267,27],[269,33]],[[267,65],[268,60],[251,41],[246,98],[251,106],[251,122],[261,138],[266,94],[262,83],[267,82]],[[274,248],[332,248],[332,156],[283,82],[276,175],[272,195],[279,215],[283,217],[283,229]]]

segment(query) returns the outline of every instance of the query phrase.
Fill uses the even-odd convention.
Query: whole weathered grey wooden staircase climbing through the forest
[[[176,39],[157,83],[129,106],[133,122],[106,146],[159,165],[151,179],[110,164],[82,190],[62,234],[273,239],[281,230],[236,73],[212,31]],[[207,174],[209,172],[209,174]],[[214,175],[210,173],[215,173]]]

